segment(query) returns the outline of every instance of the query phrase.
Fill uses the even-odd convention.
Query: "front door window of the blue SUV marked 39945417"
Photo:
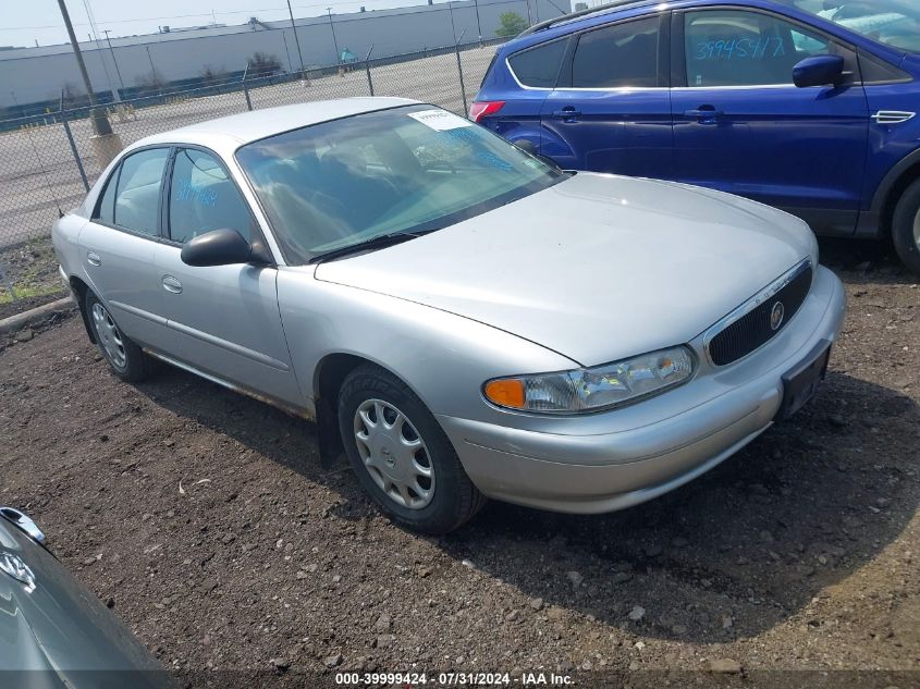
[[[820,34],[760,12],[712,10],[684,19],[688,86],[793,84],[793,67],[814,56],[838,54],[856,71],[856,56]]]

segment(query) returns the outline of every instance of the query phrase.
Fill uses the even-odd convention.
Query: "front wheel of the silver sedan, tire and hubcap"
[[[484,504],[434,416],[389,371],[365,365],[348,374],[339,428],[361,485],[395,521],[441,534]]]

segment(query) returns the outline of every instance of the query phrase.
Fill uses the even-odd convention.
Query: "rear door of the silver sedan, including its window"
[[[154,147],[126,156],[79,234],[90,288],[128,337],[154,347],[168,341],[154,254],[169,155],[169,147]]]

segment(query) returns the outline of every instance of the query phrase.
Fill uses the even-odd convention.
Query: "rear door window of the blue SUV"
[[[581,34],[572,60],[575,88],[658,86],[659,19]]]

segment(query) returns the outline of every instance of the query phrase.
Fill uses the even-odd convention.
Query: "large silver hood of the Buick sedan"
[[[318,280],[451,311],[594,366],[689,342],[814,251],[798,219],[686,185],[592,173]]]

